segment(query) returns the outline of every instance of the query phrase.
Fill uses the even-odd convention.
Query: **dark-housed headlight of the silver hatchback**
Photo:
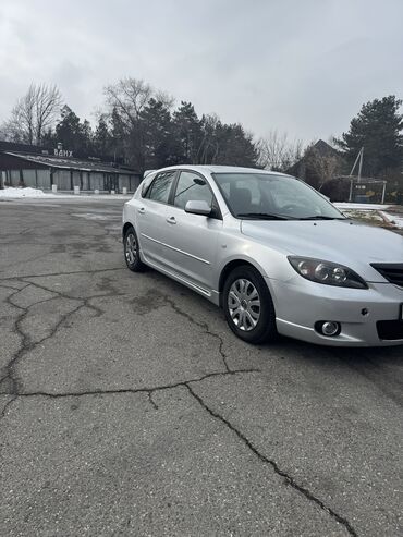
[[[307,280],[339,288],[368,289],[365,281],[353,270],[337,263],[289,256],[292,267]]]

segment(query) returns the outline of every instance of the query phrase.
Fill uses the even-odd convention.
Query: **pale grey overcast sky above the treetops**
[[[0,122],[30,82],[94,121],[133,76],[258,136],[327,139],[403,97],[402,21],[401,0],[0,0]]]

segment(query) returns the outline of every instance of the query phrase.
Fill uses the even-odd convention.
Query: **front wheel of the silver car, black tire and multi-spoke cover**
[[[222,306],[229,327],[242,340],[253,344],[276,340],[273,302],[255,268],[242,265],[230,273],[224,283]]]

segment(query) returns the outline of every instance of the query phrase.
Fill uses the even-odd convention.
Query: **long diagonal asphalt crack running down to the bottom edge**
[[[258,451],[257,448],[255,448],[255,446],[252,443],[252,441],[248,440],[248,438],[246,438],[246,436],[243,432],[241,432],[239,429],[236,429],[236,427],[234,425],[232,425],[227,418],[224,418],[223,416],[221,416],[220,414],[215,412],[212,408],[210,408],[206,404],[206,402],[192,389],[190,383],[191,382],[185,383],[187,390],[190,391],[191,395],[199,403],[199,405],[206,412],[208,412],[213,418],[220,420],[222,424],[225,425],[227,428],[229,428],[232,432],[234,432],[237,436],[237,438],[248,448],[248,450],[252,451],[262,463],[269,464],[273,468],[276,474],[283,477],[286,485],[289,485],[292,488],[294,488],[295,490],[297,490],[307,500],[316,503],[321,510],[323,510],[326,513],[328,513],[339,524],[343,525],[350,535],[352,535],[353,537],[357,537],[356,530],[353,528],[351,523],[344,516],[341,516],[339,513],[337,513],[331,508],[326,505],[319,498],[317,498],[313,492],[310,492],[310,490],[308,490],[307,488],[305,488],[302,485],[300,485],[298,483],[296,483],[295,479],[290,474],[288,474],[286,472],[284,472],[283,469],[281,469],[279,467],[279,465],[276,461],[273,461],[272,459],[268,459],[266,455],[260,453],[260,451]]]

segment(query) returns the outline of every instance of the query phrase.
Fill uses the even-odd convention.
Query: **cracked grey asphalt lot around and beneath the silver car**
[[[0,535],[403,535],[402,349],[247,345],[122,204],[0,203]]]

